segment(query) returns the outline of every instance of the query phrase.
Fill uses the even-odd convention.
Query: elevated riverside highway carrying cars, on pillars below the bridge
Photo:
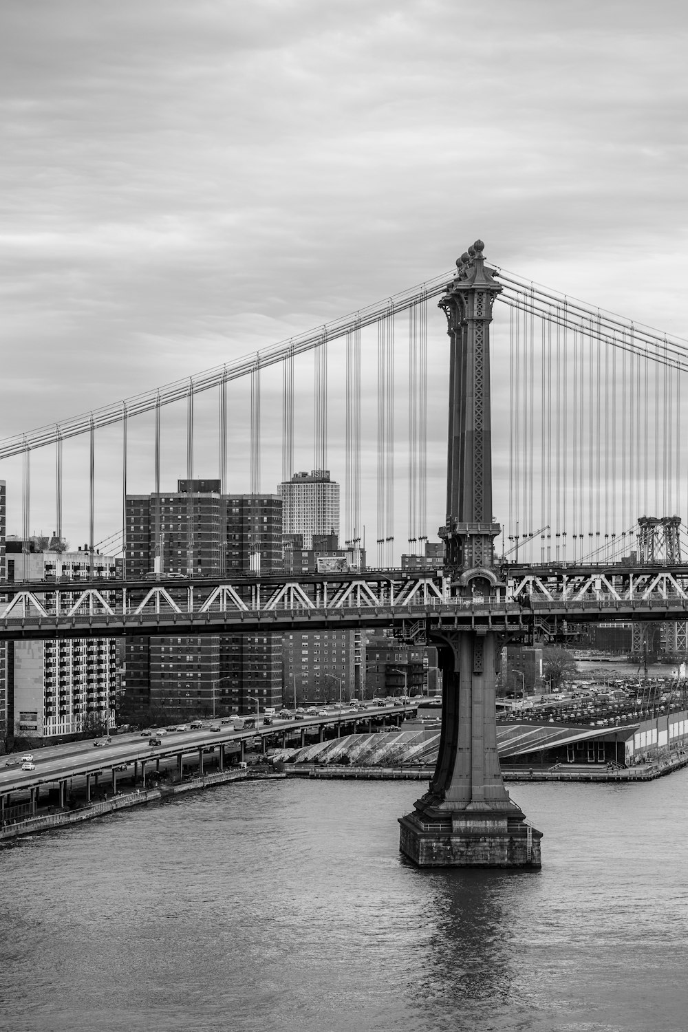
[[[52,745],[43,748],[26,748],[23,752],[3,755],[0,757],[0,800],[4,809],[6,799],[14,793],[30,793],[33,789],[51,784],[59,784],[68,781],[72,777],[95,777],[105,772],[112,774],[112,787],[117,785],[118,767],[132,764],[143,765],[143,769],[151,769],[151,764],[156,761],[170,760],[179,756],[197,754],[202,765],[203,749],[214,745],[225,746],[230,742],[245,743],[248,739],[257,737],[267,738],[271,735],[282,736],[294,734],[295,732],[306,732],[314,728],[320,730],[328,725],[340,723],[354,724],[366,722],[370,719],[390,717],[402,717],[406,714],[415,714],[418,710],[418,702],[405,703],[401,706],[366,706],[365,710],[351,710],[342,707],[341,717],[339,717],[339,707],[330,707],[331,712],[327,716],[304,716],[298,719],[281,719],[275,717],[270,725],[263,725],[256,729],[247,728],[242,731],[234,731],[230,724],[220,724],[221,731],[211,732],[209,728],[198,731],[174,732],[161,736],[161,745],[150,745],[149,737],[159,734],[154,729],[151,736],[142,738],[140,734],[114,735],[110,744],[94,748],[93,739],[80,742],[67,742],[62,745]],[[244,716],[244,719],[250,714]],[[261,718],[262,719],[262,718]],[[218,721],[212,721],[217,723]],[[224,750],[220,750],[220,755],[224,762]],[[36,769],[33,771],[23,771],[21,769],[21,757],[27,753],[33,753],[33,762]],[[15,766],[7,767],[8,762],[14,762]],[[130,776],[130,775],[126,775]]]

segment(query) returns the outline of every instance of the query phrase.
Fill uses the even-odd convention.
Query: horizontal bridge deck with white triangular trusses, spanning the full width
[[[0,640],[221,635],[401,626],[519,633],[535,618],[683,620],[688,565],[533,566],[499,571],[498,596],[452,595],[441,571],[6,585]],[[3,586],[4,587],[4,586]]]

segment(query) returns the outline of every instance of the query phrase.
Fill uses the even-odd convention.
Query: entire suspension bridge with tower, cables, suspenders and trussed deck
[[[449,375],[430,318],[435,299],[450,336]],[[275,373],[280,413],[272,404]],[[602,620],[646,630],[679,621],[685,628],[688,478],[681,400],[687,373],[685,342],[491,268],[476,241],[454,272],[314,332],[0,442],[8,513],[21,523],[23,549],[37,519],[52,523],[61,541],[65,513],[88,525],[89,538],[78,582],[36,583],[20,574],[5,585],[0,638],[394,626],[406,638],[431,640],[445,678],[439,756],[429,792],[401,818],[401,849],[419,866],[539,866],[540,833],[510,800],[499,770],[497,641],[523,640],[535,628],[554,637],[562,624]],[[273,393],[266,409],[268,383]],[[199,419],[206,398],[217,406],[212,446],[207,407]],[[438,530],[444,563],[402,569],[403,549],[425,556],[430,488],[437,480],[429,459],[434,462],[438,440],[436,413],[448,401],[447,504]],[[232,419],[242,404],[237,438]],[[177,447],[170,459],[165,414],[172,411],[171,436],[183,440],[184,451]],[[163,502],[171,463],[176,472],[185,467],[191,482],[199,454],[207,476],[215,453],[223,494],[230,477],[233,485],[243,478],[251,494],[261,491],[267,471],[277,479],[279,438],[283,481],[304,447],[315,470],[336,464],[345,476],[347,569],[287,576],[261,563],[256,534],[250,571],[229,571],[219,554],[217,574],[200,578],[190,493],[186,575],[165,573],[161,540],[157,569],[128,577],[134,528],[127,498],[133,478],[141,480],[149,431],[146,493]],[[80,508],[70,506],[64,489],[74,445],[84,459],[79,483],[88,484]],[[36,480],[35,470],[37,456],[40,464],[50,451],[48,510],[46,478]],[[110,526],[99,541],[101,510]],[[118,511],[121,527],[112,529]],[[375,526],[372,569],[362,558],[366,512]],[[406,525],[399,534],[402,513]],[[164,518],[159,525],[164,531]],[[95,576],[103,543],[122,553],[121,577]]]

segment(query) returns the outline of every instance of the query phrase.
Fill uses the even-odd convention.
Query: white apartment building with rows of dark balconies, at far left
[[[90,576],[88,550],[40,548],[40,539],[7,542],[8,581]],[[98,577],[121,575],[122,560],[114,556],[96,553],[93,563]],[[7,658],[15,737],[54,740],[104,732],[114,723],[119,658],[113,638],[15,641]]]

